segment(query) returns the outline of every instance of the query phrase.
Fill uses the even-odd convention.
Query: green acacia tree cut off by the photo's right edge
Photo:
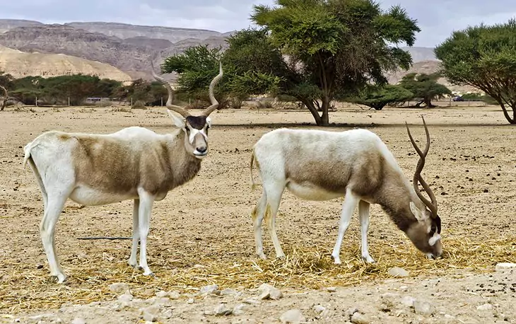
[[[498,25],[478,25],[456,31],[434,50],[442,61],[443,76],[454,84],[467,84],[487,93],[513,125],[516,125],[515,35],[515,19]]]

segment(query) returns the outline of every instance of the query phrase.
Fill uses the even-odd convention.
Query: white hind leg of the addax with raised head
[[[56,247],[55,247],[55,229],[59,215],[61,214],[64,203],[68,199],[68,192],[61,194],[49,194],[47,198],[47,204],[45,206],[45,214],[40,223],[40,236],[45,248],[45,254],[47,255],[48,265],[50,268],[50,275],[57,279],[58,283],[62,283],[66,280],[66,275],[59,265],[57,258]]]

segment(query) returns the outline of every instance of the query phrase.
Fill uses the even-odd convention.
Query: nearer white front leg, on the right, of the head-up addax
[[[148,276],[153,275],[151,269],[149,269],[147,265],[147,236],[151,225],[151,211],[154,197],[143,189],[138,190],[138,195],[140,198],[138,211],[138,227],[140,232],[140,268],[143,270],[143,274]]]

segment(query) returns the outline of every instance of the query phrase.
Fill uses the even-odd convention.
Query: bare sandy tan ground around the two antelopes
[[[213,265],[218,265],[226,272],[244,263],[258,262],[257,269],[262,266],[254,258],[250,211],[260,192],[250,191],[250,150],[259,137],[271,129],[315,128],[313,123],[308,124],[312,119],[307,111],[213,113],[211,151],[199,175],[154,205],[148,260],[156,278],[142,278],[138,271],[126,265],[130,241],[78,240],[86,236],[131,236],[131,202],[87,208],[68,202],[57,226],[56,241],[69,281],[56,287],[49,280],[39,237],[40,191],[30,170],[21,168],[23,146],[49,129],[109,133],[139,125],[164,133],[170,129],[170,120],[163,108],[134,112],[115,112],[111,108],[36,108],[33,112],[8,109],[0,115],[0,320],[11,323],[20,318],[21,322],[61,320],[69,323],[77,316],[76,312],[82,311],[87,323],[137,323],[141,307],[153,303],[151,298],[157,291],[177,289],[181,294],[179,299],[160,305],[163,310],[172,309],[173,316],[168,319],[162,316],[158,320],[166,323],[246,320],[273,323],[283,312],[298,308],[307,321],[336,323],[350,320],[349,309],[356,307],[365,316],[363,320],[373,323],[516,323],[511,306],[516,303],[512,284],[516,282],[515,273],[493,272],[497,262],[516,262],[516,129],[507,125],[499,108],[385,108],[380,112],[347,108],[332,112],[331,121],[336,125],[328,130],[364,127],[376,132],[411,178],[417,158],[406,136],[404,122],[413,124],[414,136],[423,139],[420,115],[424,115],[430,125],[433,139],[423,175],[438,195],[445,250],[446,240],[491,242],[493,246],[484,249],[489,253],[492,248],[496,258],[479,270],[475,265],[454,263],[452,259],[459,257],[452,258],[452,255],[439,261],[447,263],[434,267],[432,261],[421,255],[420,270],[404,279],[387,279],[389,276],[381,267],[360,272],[370,268],[359,260],[360,234],[358,220],[354,218],[344,238],[341,260],[356,267],[360,277],[351,280],[347,276],[339,281],[339,272],[313,270],[310,273],[307,269],[287,279],[273,277],[274,272],[270,272],[271,278],[263,281],[264,274],[256,272],[256,277],[262,276],[259,277],[262,283],[269,282],[280,288],[283,298],[251,301],[243,315],[221,317],[211,315],[218,303],[231,308],[257,296],[253,289],[257,289],[260,282],[253,279],[249,271],[252,267],[245,268],[248,282],[232,279],[230,274],[214,275],[211,270],[199,270],[194,276],[190,275],[188,282],[184,277],[181,279],[182,274],[191,274],[192,269],[203,266],[212,269]],[[319,258],[329,265],[341,202],[342,199],[307,202],[289,192],[283,195],[277,224],[287,257],[315,247],[319,249]],[[378,263],[392,264],[399,260],[400,266],[407,265],[403,255],[394,255],[394,246],[406,247],[406,253],[410,254],[417,254],[416,250],[380,207],[372,207],[371,215],[369,242],[373,258]],[[496,245],[502,241],[505,245],[500,254],[496,252]],[[266,231],[264,248],[269,257],[274,257]],[[477,252],[468,252],[474,260]],[[468,256],[460,258],[464,260]],[[439,270],[434,271],[434,268]],[[329,277],[328,273],[336,275]],[[182,281],[176,283],[175,280]],[[303,280],[307,285],[300,287]],[[119,294],[109,292],[108,288],[113,282],[128,282],[131,294],[141,300],[137,302],[141,305],[125,311],[115,309],[113,305]],[[197,296],[197,289],[206,284],[235,289],[239,294]],[[339,288],[327,291],[325,287],[329,284]],[[382,296],[386,292],[396,295]],[[404,306],[401,299],[406,296],[428,301],[432,311],[418,313],[414,307]],[[188,299],[192,298],[194,303],[189,303]],[[92,301],[102,303],[72,305],[88,305]],[[483,306],[486,303],[491,306]],[[313,306],[317,304],[324,306],[325,311],[314,311]],[[478,306],[483,307],[477,310]],[[47,322],[44,317],[30,318],[45,313],[52,314]],[[109,318],[112,320],[107,320]]]

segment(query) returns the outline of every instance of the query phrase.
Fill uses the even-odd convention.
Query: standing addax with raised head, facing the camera
[[[197,175],[201,160],[208,154],[209,115],[218,108],[209,86],[211,105],[199,116],[172,105],[173,91],[165,79],[153,74],[168,90],[168,115],[177,129],[156,134],[142,127],[128,127],[113,134],[45,132],[25,146],[23,166],[28,162],[42,191],[45,213],[40,235],[50,274],[64,282],[57,259],[54,232],[66,199],[84,205],[102,205],[133,199],[133,242],[129,265],[151,275],[147,265],[147,236],[153,202],[164,199],[168,191]],[[175,115],[177,112],[180,116]]]

